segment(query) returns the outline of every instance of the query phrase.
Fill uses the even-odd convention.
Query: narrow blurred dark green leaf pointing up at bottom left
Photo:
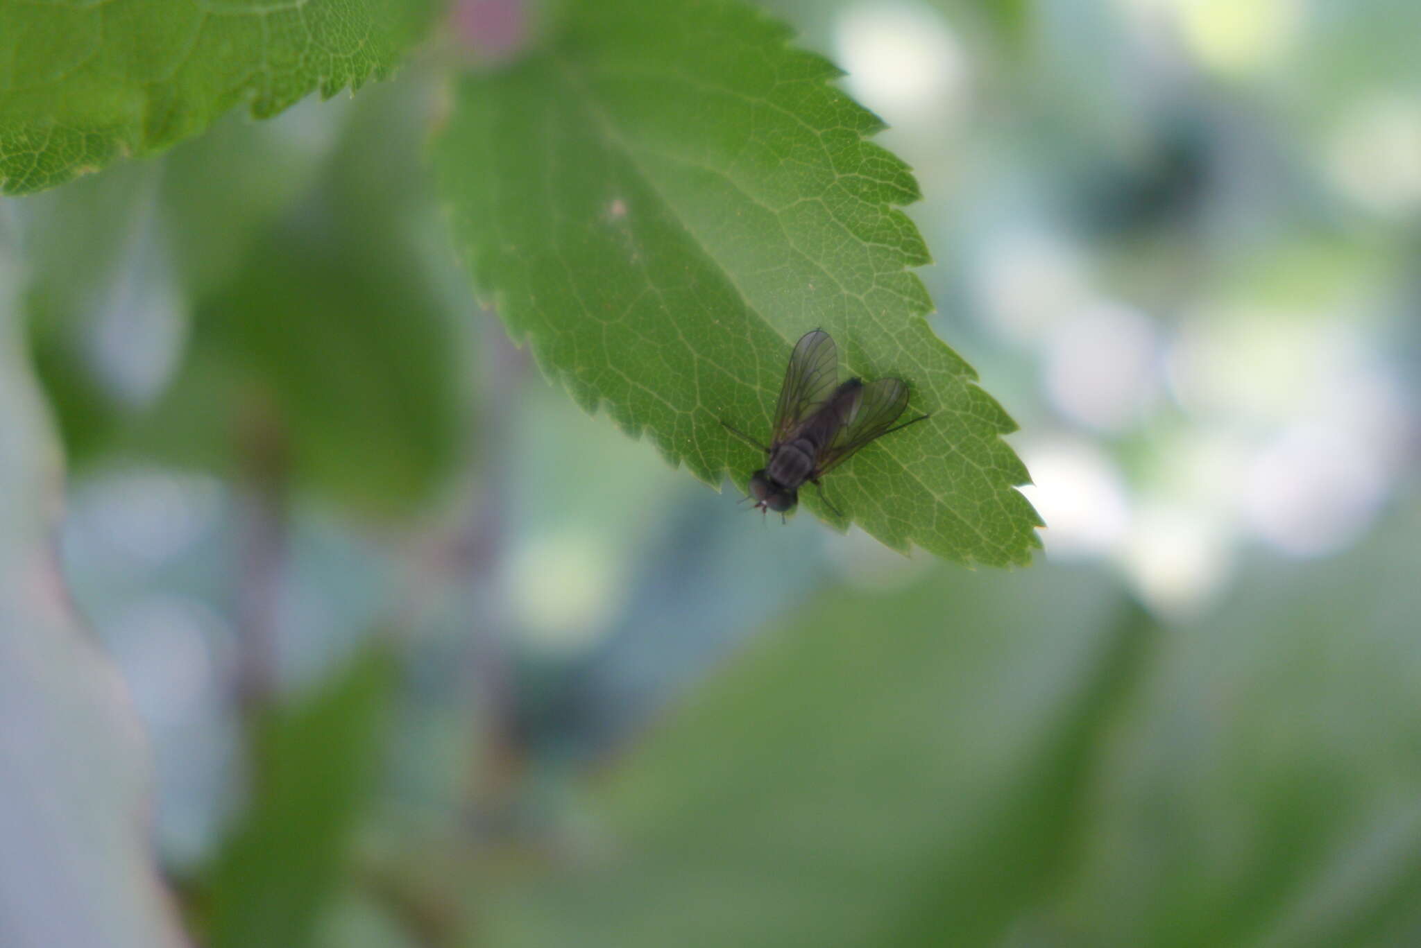
[[[372,647],[301,706],[257,725],[250,810],[210,877],[217,948],[300,948],[348,873],[381,756],[395,662]]]

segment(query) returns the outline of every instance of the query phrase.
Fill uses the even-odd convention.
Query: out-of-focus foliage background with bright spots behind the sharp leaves
[[[1421,7],[769,6],[917,169],[1029,570],[764,527],[550,389],[431,63],[0,205],[190,930],[1421,941]]]

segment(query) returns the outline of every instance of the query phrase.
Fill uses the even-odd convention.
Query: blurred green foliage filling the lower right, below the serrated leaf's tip
[[[838,591],[603,775],[607,846],[500,893],[490,941],[1412,944],[1421,507],[1398,513],[1198,621],[1052,564]]]

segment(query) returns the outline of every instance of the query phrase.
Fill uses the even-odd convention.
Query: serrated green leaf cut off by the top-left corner
[[[0,0],[0,193],[53,188],[196,135],[382,78],[426,0]]]

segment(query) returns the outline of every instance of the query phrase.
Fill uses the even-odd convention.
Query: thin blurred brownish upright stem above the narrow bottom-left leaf
[[[276,621],[286,563],[287,438],[264,395],[250,398],[237,422],[242,523],[237,576],[237,702],[247,723],[276,692]]]

